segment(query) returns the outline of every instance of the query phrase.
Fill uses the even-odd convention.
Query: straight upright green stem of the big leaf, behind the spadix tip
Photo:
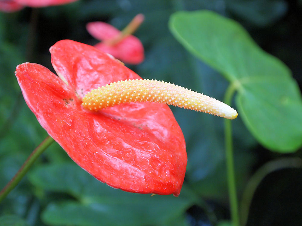
[[[226,90],[224,103],[231,105],[232,97],[235,92],[235,85],[231,83]],[[230,199],[230,211],[233,226],[239,226],[238,200],[235,183],[234,157],[233,157],[233,140],[232,140],[232,124],[229,119],[224,120],[224,136],[226,149],[226,173]]]

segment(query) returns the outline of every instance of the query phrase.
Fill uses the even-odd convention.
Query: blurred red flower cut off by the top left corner
[[[24,6],[46,7],[52,5],[63,5],[77,0],[0,0],[0,11],[14,12],[21,10]]]

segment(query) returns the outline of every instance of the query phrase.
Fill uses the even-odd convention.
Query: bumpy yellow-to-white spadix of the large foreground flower
[[[122,103],[148,101],[202,111],[223,118],[237,117],[237,111],[214,98],[181,86],[149,79],[118,81],[93,89],[84,96],[83,106],[98,111]]]

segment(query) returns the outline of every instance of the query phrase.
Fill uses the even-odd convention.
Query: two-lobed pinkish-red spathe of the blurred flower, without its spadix
[[[119,30],[104,22],[91,22],[87,24],[86,28],[93,37],[101,41],[112,39],[120,34]],[[95,47],[124,63],[140,64],[144,60],[143,44],[133,35],[126,37],[114,46],[100,42]]]

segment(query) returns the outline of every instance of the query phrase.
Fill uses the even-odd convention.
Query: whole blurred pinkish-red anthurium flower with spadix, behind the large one
[[[86,28],[94,38],[102,41],[95,45],[96,48],[113,55],[124,63],[140,64],[144,60],[143,44],[140,39],[129,33],[133,33],[143,20],[144,16],[138,14],[133,18],[130,26],[123,31],[101,21],[90,22]]]

